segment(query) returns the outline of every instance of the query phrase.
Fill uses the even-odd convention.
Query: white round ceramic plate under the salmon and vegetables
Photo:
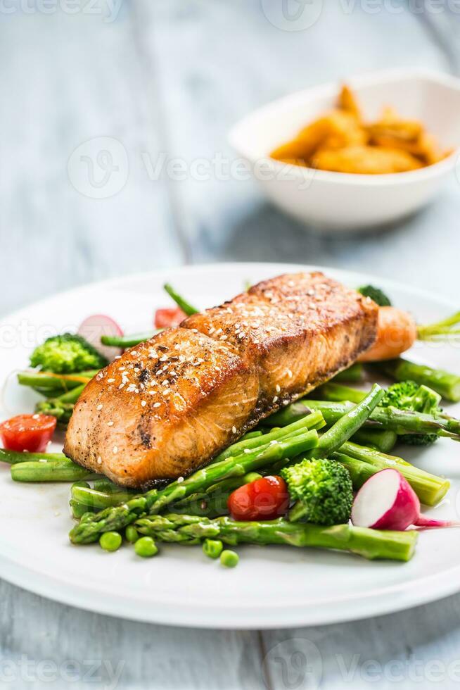
[[[257,282],[299,268],[280,264],[227,264],[182,268],[89,285],[23,309],[0,322],[0,377],[27,364],[35,340],[50,331],[77,327],[91,313],[107,313],[126,332],[151,327],[154,308],[168,304],[162,284],[170,280],[200,308]],[[309,267],[312,268],[312,267]],[[329,270],[350,286],[369,276]],[[430,294],[375,280],[395,303],[420,321],[440,318],[454,306]],[[459,370],[452,346],[423,349],[414,356]],[[28,411],[27,396],[11,411]],[[22,396],[22,397],[21,397]],[[12,399],[13,398],[13,399]],[[30,409],[30,408],[29,408]],[[455,408],[453,408],[455,409]],[[460,410],[457,410],[460,412]],[[56,446],[56,450],[58,446]],[[452,489],[438,517],[455,516],[460,487],[459,446],[442,439],[429,450],[405,457],[445,474]],[[226,570],[200,548],[162,546],[161,555],[141,560],[132,548],[106,553],[98,546],[72,546],[68,484],[15,484],[0,468],[0,576],[49,598],[110,615],[172,625],[215,628],[269,628],[352,620],[409,608],[460,590],[460,530],[421,534],[410,563],[368,562],[347,553],[287,547],[245,546],[241,561]]]

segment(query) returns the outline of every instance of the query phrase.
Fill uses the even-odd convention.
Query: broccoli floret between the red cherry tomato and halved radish
[[[333,460],[302,460],[281,470],[295,505],[289,519],[301,517],[315,525],[348,522],[353,503],[352,480],[348,470]]]

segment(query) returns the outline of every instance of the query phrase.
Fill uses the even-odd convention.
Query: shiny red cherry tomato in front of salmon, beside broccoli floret
[[[235,489],[227,506],[234,520],[274,520],[288,510],[288,487],[282,477],[262,477]]]

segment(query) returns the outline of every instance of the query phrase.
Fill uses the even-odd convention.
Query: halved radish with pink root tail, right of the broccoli
[[[354,498],[352,523],[357,527],[396,529],[453,527],[457,522],[432,520],[420,515],[420,501],[407,479],[388,468],[370,477]]]

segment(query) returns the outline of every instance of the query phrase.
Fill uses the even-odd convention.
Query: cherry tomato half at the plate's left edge
[[[8,451],[43,453],[56,429],[51,415],[17,415],[0,424],[0,437]]]

